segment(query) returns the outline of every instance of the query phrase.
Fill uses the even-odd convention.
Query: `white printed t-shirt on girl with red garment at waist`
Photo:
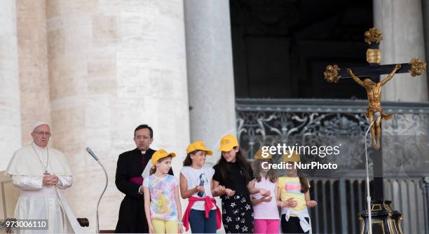
[[[194,193],[192,196],[195,198],[205,198],[205,197],[213,197],[212,195],[212,177],[214,174],[214,169],[212,167],[203,167],[201,169],[195,169],[192,167],[183,167],[182,171],[180,173],[183,174],[183,176],[186,178],[186,181],[188,183],[188,190],[195,188],[196,186],[204,186],[204,193]],[[193,206],[191,209],[196,210],[205,210],[204,208],[204,201],[199,201],[193,203]],[[213,206],[212,209],[216,209],[216,207]]]

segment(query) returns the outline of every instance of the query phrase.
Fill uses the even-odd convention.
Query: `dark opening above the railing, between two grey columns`
[[[230,0],[236,97],[365,99],[353,80],[329,84],[327,64],[362,66],[372,1]]]

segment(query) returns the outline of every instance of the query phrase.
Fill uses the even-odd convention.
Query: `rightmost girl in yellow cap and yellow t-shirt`
[[[279,177],[277,197],[282,202],[282,233],[311,233],[311,220],[307,207],[315,207],[317,202],[310,199],[310,184],[304,174],[297,169],[300,162],[298,152],[285,153],[283,162],[287,163],[284,177]],[[292,204],[291,204],[291,198]]]

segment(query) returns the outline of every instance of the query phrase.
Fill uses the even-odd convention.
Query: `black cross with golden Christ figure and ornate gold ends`
[[[369,66],[357,67],[353,69],[354,72],[348,68],[346,72],[343,72],[340,71],[341,69],[337,65],[328,65],[326,71],[323,73],[329,83],[338,83],[340,78],[351,77],[356,83],[367,90],[367,118],[369,123],[373,121],[376,112],[381,114],[371,127],[372,146],[374,146],[374,149],[380,149],[381,119],[388,120],[393,116],[393,113],[383,113],[383,109],[381,108],[381,87],[390,81],[396,73],[409,71],[411,76],[420,76],[426,69],[426,63],[421,62],[417,58],[412,59],[408,64],[380,65],[381,51],[379,46],[382,39],[381,30],[379,29],[372,28],[365,32],[365,42],[369,44],[369,48],[367,49],[367,62]],[[381,74],[388,74],[388,76],[378,82]],[[359,76],[369,78],[365,78],[362,81]]]

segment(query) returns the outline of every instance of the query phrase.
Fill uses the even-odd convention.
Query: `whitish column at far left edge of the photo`
[[[0,1],[0,171],[21,147],[20,83],[14,0]]]

